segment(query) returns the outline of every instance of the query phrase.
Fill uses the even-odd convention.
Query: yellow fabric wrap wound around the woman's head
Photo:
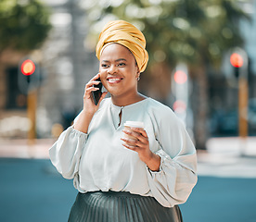
[[[135,57],[140,72],[147,67],[148,55],[146,39],[141,31],[124,20],[114,20],[107,23],[99,34],[96,44],[96,57],[100,58],[103,49],[109,43],[120,43],[128,48]]]

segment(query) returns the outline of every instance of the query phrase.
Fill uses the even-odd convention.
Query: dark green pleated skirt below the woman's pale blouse
[[[77,194],[69,222],[182,222],[178,205],[163,207],[153,197],[124,191]]]

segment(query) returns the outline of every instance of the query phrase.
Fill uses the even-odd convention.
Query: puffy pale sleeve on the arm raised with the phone
[[[49,150],[51,162],[66,179],[73,179],[78,172],[87,134],[70,127],[63,131]]]

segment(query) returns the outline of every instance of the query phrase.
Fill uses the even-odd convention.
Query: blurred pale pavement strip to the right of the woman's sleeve
[[[198,151],[198,175],[256,178],[256,137],[211,138],[207,151]]]

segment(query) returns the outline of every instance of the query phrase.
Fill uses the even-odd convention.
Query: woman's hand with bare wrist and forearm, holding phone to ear
[[[90,122],[92,118],[94,117],[100,102],[104,99],[104,97],[107,95],[108,92],[102,93],[98,104],[95,105],[95,102],[92,98],[91,93],[93,91],[98,90],[98,88],[94,87],[94,85],[97,85],[99,81],[96,81],[100,77],[99,73],[96,74],[96,76],[89,80],[88,83],[85,85],[84,94],[83,94],[83,110],[79,114],[77,120],[74,123],[74,129],[77,129],[79,131],[82,131],[84,133],[88,132],[88,128],[90,125]]]

